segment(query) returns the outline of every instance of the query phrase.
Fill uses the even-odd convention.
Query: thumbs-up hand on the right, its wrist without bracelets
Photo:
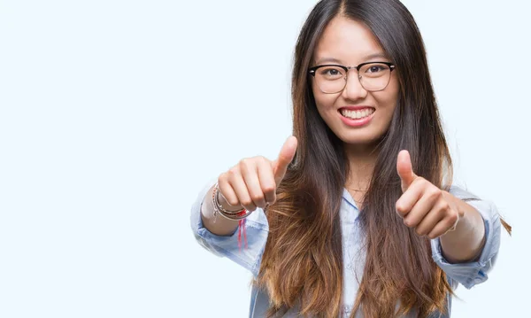
[[[398,153],[396,171],[403,192],[396,201],[396,213],[404,219],[405,226],[431,239],[456,228],[462,213],[458,213],[457,206],[448,199],[448,192],[415,175],[408,151]]]

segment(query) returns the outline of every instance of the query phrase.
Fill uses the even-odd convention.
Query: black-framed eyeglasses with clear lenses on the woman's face
[[[310,67],[308,73],[315,78],[317,86],[323,93],[335,94],[345,88],[347,74],[351,69],[358,71],[358,80],[364,89],[378,91],[389,85],[395,65],[390,62],[366,62],[358,66],[327,64]]]

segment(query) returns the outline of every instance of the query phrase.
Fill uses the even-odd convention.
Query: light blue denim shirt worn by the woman
[[[238,231],[230,237],[219,237],[204,228],[201,221],[201,205],[204,196],[212,187],[214,182],[210,182],[204,187],[191,211],[191,227],[199,244],[202,244],[208,251],[221,257],[227,257],[235,261],[243,268],[250,270],[255,277],[258,275],[262,253],[266,247],[268,234],[268,224],[266,215],[262,209],[257,209],[247,218],[245,227],[247,230],[248,247],[246,249],[238,248]],[[486,242],[479,260],[462,263],[450,264],[444,260],[441,252],[439,238],[431,240],[432,257],[435,263],[443,268],[449,278],[452,287],[457,288],[462,284],[467,289],[477,283],[483,283],[487,280],[490,268],[492,268],[500,245],[501,222],[496,206],[488,201],[483,201],[465,190],[452,186],[450,193],[457,198],[467,201],[475,207],[485,221]],[[347,190],[342,193],[342,205],[340,217],[342,222],[342,252],[343,252],[343,313],[342,316],[348,317],[352,310],[354,299],[358,291],[358,282],[361,281],[361,274],[365,265],[365,254],[360,248],[360,231],[358,230],[359,210],[356,203]],[[448,296],[447,314],[435,313],[433,317],[450,317],[451,298]],[[250,298],[250,317],[264,317],[269,306],[269,299],[265,291],[259,291],[253,287]],[[297,317],[297,308],[291,308],[283,317]],[[408,317],[416,316],[414,313]],[[362,317],[357,313],[357,317]]]

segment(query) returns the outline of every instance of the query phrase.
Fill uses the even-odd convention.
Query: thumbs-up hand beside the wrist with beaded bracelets
[[[277,186],[295,156],[296,144],[296,137],[290,136],[277,159],[272,161],[261,156],[242,159],[219,175],[219,204],[233,211],[241,207],[254,211],[273,204]]]

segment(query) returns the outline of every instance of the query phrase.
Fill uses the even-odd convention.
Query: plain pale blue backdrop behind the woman
[[[196,244],[190,207],[289,136],[315,3],[0,1],[0,317],[245,317],[250,274]],[[404,4],[455,182],[514,228],[452,317],[528,316],[531,5]]]

